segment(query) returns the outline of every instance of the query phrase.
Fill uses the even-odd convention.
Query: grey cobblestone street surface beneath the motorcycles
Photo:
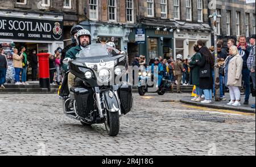
[[[189,94],[141,97],[110,137],[63,114],[53,94],[0,95],[0,155],[254,155],[255,114],[184,105]]]

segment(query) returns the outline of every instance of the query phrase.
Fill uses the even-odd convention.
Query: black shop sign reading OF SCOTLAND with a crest
[[[63,22],[0,16],[0,38],[63,41]]]

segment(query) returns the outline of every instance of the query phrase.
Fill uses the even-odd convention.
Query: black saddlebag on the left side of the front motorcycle
[[[71,99],[76,100],[77,114],[80,117],[86,118],[93,110],[93,91],[81,87],[72,87],[70,89]]]

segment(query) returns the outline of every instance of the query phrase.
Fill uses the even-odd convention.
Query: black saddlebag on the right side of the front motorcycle
[[[131,111],[133,107],[133,94],[132,87],[128,84],[123,84],[121,88],[119,88],[118,96],[121,102],[121,112],[122,114],[127,114]]]

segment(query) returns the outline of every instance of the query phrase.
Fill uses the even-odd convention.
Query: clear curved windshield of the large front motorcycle
[[[120,51],[106,44],[92,44],[82,49],[77,58],[93,57],[114,57],[120,54]]]

